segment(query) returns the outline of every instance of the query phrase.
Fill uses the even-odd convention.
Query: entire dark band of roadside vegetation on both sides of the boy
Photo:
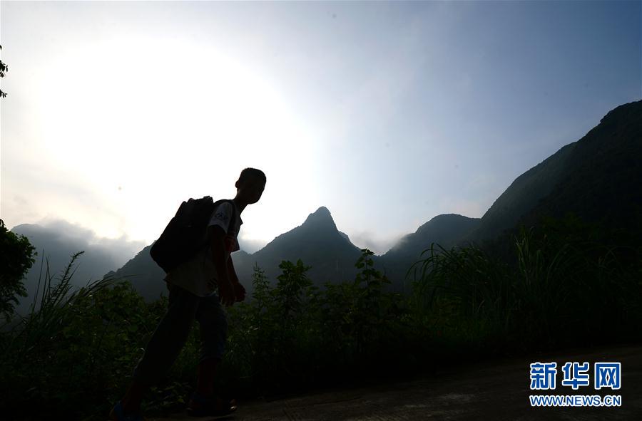
[[[431,244],[409,268],[407,296],[392,292],[367,249],[354,280],[323,288],[300,260],[282,261],[274,280],[257,266],[251,299],[228,309],[218,388],[275,397],[489,356],[638,342],[642,249],[590,234],[548,220],[522,228],[504,254]],[[80,255],[56,278],[47,267],[31,313],[0,333],[0,410],[11,419],[103,419],[165,312],[165,296],[146,303],[126,279],[71,291]],[[198,347],[197,326],[143,410],[183,409]]]

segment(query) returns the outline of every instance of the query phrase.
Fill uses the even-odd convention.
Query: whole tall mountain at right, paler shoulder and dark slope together
[[[595,128],[516,178],[464,243],[495,239],[543,216],[572,212],[612,231],[642,232],[642,101],[609,111]]]

